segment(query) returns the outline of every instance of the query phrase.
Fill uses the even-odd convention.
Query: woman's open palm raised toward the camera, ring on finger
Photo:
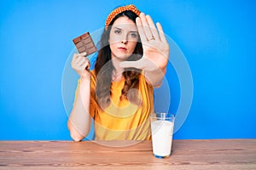
[[[142,13],[137,17],[136,24],[143,43],[143,57],[137,61],[124,61],[121,66],[135,67],[144,71],[166,69],[169,45],[160,23],[156,23],[156,28],[151,17]]]

